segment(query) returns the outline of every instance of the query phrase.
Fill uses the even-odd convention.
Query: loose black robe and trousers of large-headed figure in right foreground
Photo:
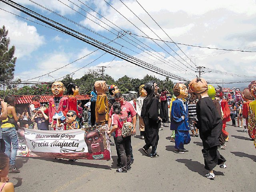
[[[198,101],[196,114],[198,118],[196,126],[203,142],[204,168],[212,170],[217,164],[226,162],[226,159],[220,155],[217,148],[220,145],[222,120],[210,97],[205,97]]]

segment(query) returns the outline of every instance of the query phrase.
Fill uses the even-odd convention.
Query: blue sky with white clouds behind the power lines
[[[256,1],[253,0],[106,0],[106,2],[104,0],[16,0],[15,2],[160,68],[156,70],[160,74],[156,74],[109,53],[104,54],[104,51],[97,50],[96,47],[68,34],[48,28],[50,26],[47,24],[0,2],[2,9],[0,26],[4,25],[8,29],[10,46],[16,47],[14,77],[20,78],[22,82],[50,82],[61,80],[66,74],[76,79],[82,77],[88,70],[100,69],[101,66],[105,66],[104,73],[115,80],[124,75],[143,78],[146,74],[165,79],[166,77],[161,75],[161,70],[192,80],[198,75],[198,72],[195,72],[196,66],[208,68],[208,70],[203,69],[205,72],[211,71],[202,74],[208,82],[222,82],[222,80],[239,82],[224,84],[224,87],[246,87],[248,81],[256,78],[255,52],[214,50],[180,44],[177,47],[176,44],[169,43],[256,51],[254,24]],[[118,34],[121,30],[127,33]],[[154,40],[157,44],[145,37],[158,39]],[[166,45],[159,39],[169,42],[166,42]],[[104,55],[101,56],[102,54]],[[78,60],[79,58],[82,59]],[[75,60],[77,61],[74,62]],[[58,68],[61,69],[56,70]],[[56,71],[52,72],[54,70]],[[180,82],[180,80],[173,81]]]

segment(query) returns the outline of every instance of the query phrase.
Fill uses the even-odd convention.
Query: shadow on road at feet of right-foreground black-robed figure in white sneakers
[[[184,163],[185,166],[191,170],[192,172],[197,172],[198,174],[202,175],[205,177],[206,170],[204,169],[204,165],[201,164],[198,161],[192,161],[192,159],[177,159],[177,162]],[[224,175],[220,171],[214,171],[215,175]]]

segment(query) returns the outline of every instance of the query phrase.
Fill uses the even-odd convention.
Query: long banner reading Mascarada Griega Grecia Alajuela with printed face
[[[17,156],[110,160],[107,125],[75,130],[19,128]]]

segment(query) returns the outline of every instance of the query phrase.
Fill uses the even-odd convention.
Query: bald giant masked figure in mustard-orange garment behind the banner
[[[106,91],[108,90],[108,85],[106,81],[96,81],[95,89],[98,93],[95,107],[95,117],[96,125],[108,124],[108,98]]]

